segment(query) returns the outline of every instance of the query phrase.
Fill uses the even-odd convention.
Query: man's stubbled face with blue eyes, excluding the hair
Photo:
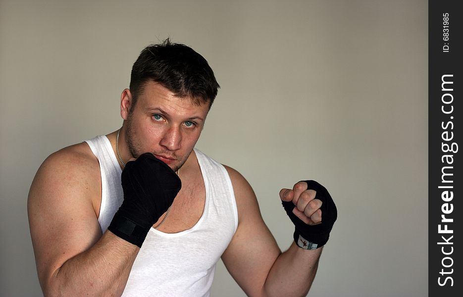
[[[204,127],[209,105],[197,105],[176,97],[155,82],[148,82],[131,106],[126,119],[126,143],[130,153],[145,152],[177,171],[188,159]]]

